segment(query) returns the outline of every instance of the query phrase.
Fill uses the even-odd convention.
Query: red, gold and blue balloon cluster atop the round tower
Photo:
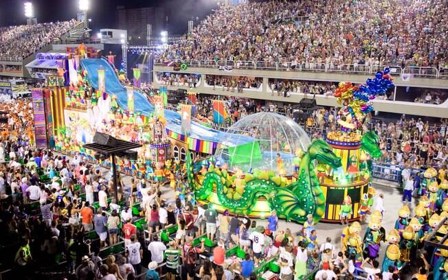
[[[363,119],[372,112],[372,100],[377,95],[384,95],[388,89],[394,86],[394,79],[389,75],[390,69],[375,73],[375,78],[368,78],[366,84],[354,86],[351,82],[340,82],[333,94],[337,102],[342,105],[339,111],[338,123],[341,130],[350,132],[355,128],[361,128]]]

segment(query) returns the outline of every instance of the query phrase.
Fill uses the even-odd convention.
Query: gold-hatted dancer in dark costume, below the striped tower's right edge
[[[379,211],[374,211],[370,215],[370,222],[363,240],[364,257],[368,256],[370,259],[378,257],[381,241],[385,241],[385,229],[381,226],[382,219]]]

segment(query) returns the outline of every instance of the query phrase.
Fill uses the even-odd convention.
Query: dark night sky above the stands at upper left
[[[0,26],[21,25],[26,23],[20,0],[0,0]],[[32,0],[34,16],[38,23],[76,19],[78,0]],[[100,28],[115,28],[115,10],[117,5],[126,8],[163,7],[168,16],[170,34],[183,34],[187,22],[192,17],[203,19],[216,8],[216,0],[90,0],[89,26],[93,32]],[[95,33],[93,33],[95,34]]]

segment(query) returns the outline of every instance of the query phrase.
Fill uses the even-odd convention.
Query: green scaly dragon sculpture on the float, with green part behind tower
[[[373,157],[381,154],[375,132],[366,133],[361,145]],[[264,208],[266,213],[275,209],[280,218],[299,223],[305,222],[309,214],[318,222],[325,211],[325,197],[314,171],[314,160],[333,168],[341,166],[341,159],[333,153],[331,146],[317,139],[302,155],[295,182],[286,185],[273,171],[254,170],[253,174],[245,174],[243,189],[235,190],[232,185],[235,176],[227,170],[220,170],[210,163],[208,172],[199,179],[194,176],[190,157],[187,158],[188,183],[202,204],[221,205],[240,215],[251,215],[256,208]],[[267,204],[263,205],[263,200]]]

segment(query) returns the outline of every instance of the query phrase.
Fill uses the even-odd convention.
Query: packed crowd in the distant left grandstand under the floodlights
[[[19,25],[0,30],[0,60],[22,60],[65,34],[76,20]]]

